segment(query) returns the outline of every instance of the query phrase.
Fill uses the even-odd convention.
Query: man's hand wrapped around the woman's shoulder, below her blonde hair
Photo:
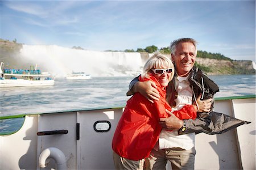
[[[159,100],[159,92],[156,90],[156,85],[154,82],[137,82],[134,84],[134,92],[139,92],[144,97],[146,97],[151,103],[154,103],[153,100]]]

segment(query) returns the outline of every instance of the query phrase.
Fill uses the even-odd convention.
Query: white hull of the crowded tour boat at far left
[[[54,80],[24,80],[24,79],[0,80],[0,87],[52,86],[53,84],[54,84]]]

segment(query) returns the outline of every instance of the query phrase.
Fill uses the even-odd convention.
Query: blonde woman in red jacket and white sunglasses
[[[159,118],[169,116],[166,109],[171,111],[166,101],[166,87],[173,77],[174,65],[166,56],[154,54],[145,63],[139,81],[155,82],[160,100],[151,103],[137,93],[127,101],[112,142],[115,168],[143,169],[144,158],[150,155],[162,130]],[[185,105],[173,113],[180,119],[196,118],[193,105]]]

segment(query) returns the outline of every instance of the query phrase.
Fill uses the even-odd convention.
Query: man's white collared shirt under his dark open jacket
[[[192,89],[188,82],[188,77],[176,77],[175,88],[177,91],[177,99],[175,99],[176,107],[173,111],[178,111],[186,104],[192,104]],[[190,150],[195,146],[195,133],[178,135],[177,130],[167,131],[162,130],[159,137],[159,149],[180,147],[185,150]]]

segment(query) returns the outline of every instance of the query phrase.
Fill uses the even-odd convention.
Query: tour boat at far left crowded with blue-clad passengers
[[[36,66],[37,67],[37,66]],[[48,72],[40,70],[3,69],[3,62],[0,66],[0,87],[19,86],[51,86],[54,79]]]

